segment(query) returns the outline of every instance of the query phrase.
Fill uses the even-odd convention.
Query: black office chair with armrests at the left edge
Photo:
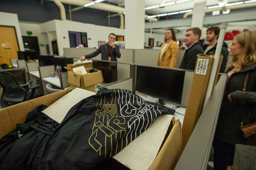
[[[3,88],[1,97],[3,108],[42,96],[35,92],[40,85],[29,87],[28,90],[30,91],[27,91],[18,84],[13,74],[9,72],[0,71],[0,85]]]

